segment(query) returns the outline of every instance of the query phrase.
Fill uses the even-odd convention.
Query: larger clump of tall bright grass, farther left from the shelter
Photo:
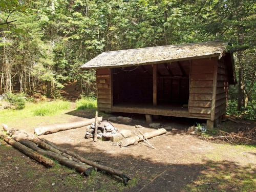
[[[67,110],[70,108],[68,101],[52,101],[38,105],[33,113],[35,116],[49,116],[58,113],[59,111]]]

